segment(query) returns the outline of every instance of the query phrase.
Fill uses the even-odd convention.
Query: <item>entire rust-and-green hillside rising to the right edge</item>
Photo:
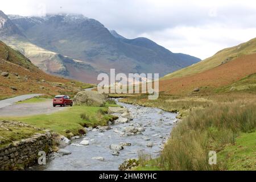
[[[160,91],[174,94],[256,91],[256,38],[160,79]],[[199,88],[199,92],[193,92]],[[196,89],[198,90],[198,89]]]

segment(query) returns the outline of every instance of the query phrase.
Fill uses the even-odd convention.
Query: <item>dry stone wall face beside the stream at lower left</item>
[[[24,169],[37,162],[38,152],[51,152],[52,135],[46,130],[44,134],[35,134],[30,138],[13,142],[0,148],[0,170]]]

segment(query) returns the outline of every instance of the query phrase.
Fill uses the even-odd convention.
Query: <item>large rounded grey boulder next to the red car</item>
[[[91,90],[84,90],[77,93],[73,101],[76,105],[86,106],[104,106],[106,104],[103,94]]]

